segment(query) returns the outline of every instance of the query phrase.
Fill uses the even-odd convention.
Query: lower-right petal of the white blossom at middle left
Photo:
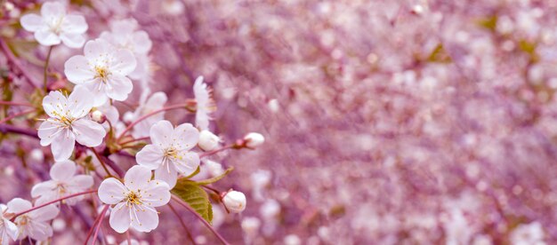
[[[107,134],[101,124],[86,118],[79,119],[71,125],[76,134],[77,142],[84,146],[94,147],[101,145],[102,138]]]

